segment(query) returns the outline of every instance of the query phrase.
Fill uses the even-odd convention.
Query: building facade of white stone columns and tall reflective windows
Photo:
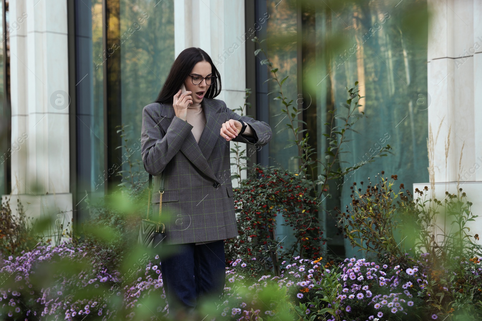
[[[413,10],[427,6],[434,13],[428,29],[416,20],[407,24]],[[337,166],[365,163],[382,145],[392,147],[392,154],[331,182],[332,197],[321,200],[327,250],[349,255],[331,209],[349,204],[353,182],[375,180],[384,170],[405,186],[430,180],[452,186],[463,167],[462,177],[469,173],[464,184],[476,195],[482,180],[478,6],[475,0],[337,7],[291,0],[3,0],[3,200],[20,199],[30,216],[55,213],[81,222],[88,213],[85,200],[102,198],[122,183],[120,170],[132,165],[145,182],[138,162],[142,108],[156,99],[175,57],[188,47],[200,47],[216,64],[222,78],[218,99],[238,108],[248,88],[251,107],[243,113],[271,125],[272,141],[249,151],[249,164],[296,170],[295,146],[284,148],[293,137],[280,131],[287,122],[278,115],[280,101],[273,100],[280,88],[267,81],[272,75],[262,64],[266,57],[254,54],[257,37],[268,39],[261,47],[278,76],[289,76],[283,94],[303,111],[300,120],[319,159],[330,112],[347,100],[346,87],[355,81],[367,117],[354,127],[360,134],[348,135],[348,153],[340,154]],[[429,128],[435,136],[440,120],[439,140],[428,153]],[[446,161],[442,138],[449,135]],[[281,238],[289,235],[279,229]]]

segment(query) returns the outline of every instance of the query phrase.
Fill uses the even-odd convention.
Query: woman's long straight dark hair
[[[221,75],[206,51],[201,48],[187,48],[183,50],[174,61],[169,76],[167,76],[164,86],[162,86],[156,103],[173,103],[174,95],[179,91],[187,76],[191,73],[192,68],[200,61],[207,61],[211,64],[211,72],[216,76],[216,81],[209,86],[204,97],[214,98],[221,92]]]

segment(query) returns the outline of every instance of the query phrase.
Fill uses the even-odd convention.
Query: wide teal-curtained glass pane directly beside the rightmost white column
[[[405,1],[401,6],[411,6],[414,2]],[[329,52],[328,64],[324,56],[328,52],[320,51],[317,55],[320,79],[327,76],[318,92],[318,114],[326,120],[327,111],[343,110],[340,103],[348,99],[346,87],[351,88],[358,81],[360,95],[365,96],[361,99],[360,111],[368,116],[353,128],[360,134],[348,133],[347,139],[352,141],[342,146],[349,152],[340,154],[339,160],[348,162],[342,167],[368,160],[381,146],[389,144],[393,148],[393,154],[366,163],[345,176],[343,185],[339,186],[337,206],[343,209],[351,203],[349,187],[353,182],[363,181],[366,187],[382,170],[388,178],[398,175],[398,182],[411,191],[413,183],[428,181],[428,116],[426,108],[417,105],[419,94],[427,92],[427,35],[421,37],[425,41],[414,41],[400,19],[390,15],[391,4],[383,1],[366,2],[362,7],[346,6],[336,13],[326,8],[320,11],[317,13],[317,19],[321,19],[321,23],[317,23],[319,45],[330,42],[326,35],[338,34],[348,41],[345,41],[346,48]],[[318,137],[322,139],[321,132]],[[320,155],[322,152],[319,151]],[[399,185],[395,187],[398,189]],[[327,218],[326,222],[327,231],[335,230],[334,221]],[[355,255],[356,250],[346,245],[347,257]]]

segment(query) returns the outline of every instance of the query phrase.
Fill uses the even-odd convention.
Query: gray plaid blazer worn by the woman
[[[160,174],[164,172],[161,222],[167,244],[224,240],[238,235],[231,184],[229,141],[220,130],[228,119],[242,120],[254,137],[233,141],[261,148],[271,140],[269,125],[239,116],[218,99],[201,101],[206,125],[198,142],[192,125],[175,116],[171,104],[151,103],[142,113],[141,154],[153,176],[152,219],[159,213]]]

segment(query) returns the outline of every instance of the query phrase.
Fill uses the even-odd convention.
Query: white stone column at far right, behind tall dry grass
[[[429,158],[435,197],[462,188],[482,208],[482,2],[428,0]],[[430,134],[429,134],[430,135]],[[430,155],[433,155],[432,157]],[[414,184],[414,189],[430,183]],[[481,222],[474,223],[481,226]],[[481,231],[479,231],[480,234]]]

